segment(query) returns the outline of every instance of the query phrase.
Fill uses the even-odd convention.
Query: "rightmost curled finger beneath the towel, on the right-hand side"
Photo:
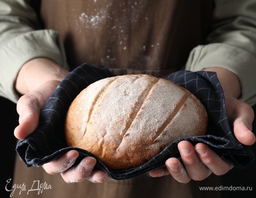
[[[224,175],[233,168],[233,165],[223,161],[218,154],[203,143],[196,144],[195,150],[203,164],[215,175]]]

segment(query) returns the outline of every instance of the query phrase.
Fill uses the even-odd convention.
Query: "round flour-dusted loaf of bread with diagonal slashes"
[[[204,106],[188,90],[150,75],[124,75],[80,92],[68,109],[65,137],[69,147],[120,170],[143,165],[176,139],[205,135],[207,124]]]

